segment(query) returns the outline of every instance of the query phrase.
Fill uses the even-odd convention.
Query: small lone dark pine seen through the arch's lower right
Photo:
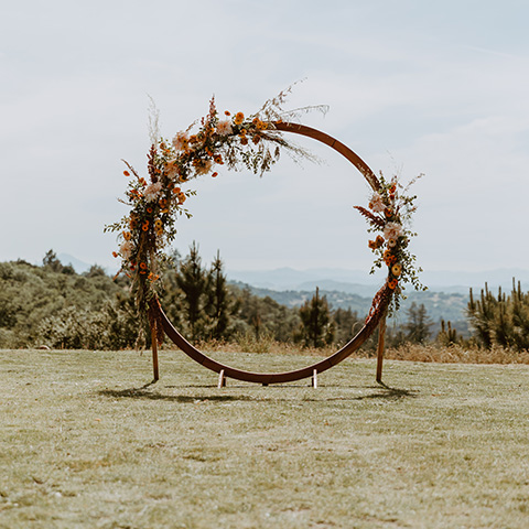
[[[305,301],[300,307],[300,317],[302,323],[301,336],[305,345],[323,347],[333,343],[335,326],[331,320],[327,299],[324,295],[320,298],[320,289],[316,287],[316,293],[310,301]]]

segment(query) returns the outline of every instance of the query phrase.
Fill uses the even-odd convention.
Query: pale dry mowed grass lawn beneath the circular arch
[[[245,368],[314,358],[216,354]],[[527,528],[529,367],[0,350],[0,527]]]

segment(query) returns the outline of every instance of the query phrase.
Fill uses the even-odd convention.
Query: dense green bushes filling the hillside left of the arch
[[[100,267],[85,274],[50,250],[43,266],[0,263],[0,347],[131,347],[137,323],[127,282]]]

